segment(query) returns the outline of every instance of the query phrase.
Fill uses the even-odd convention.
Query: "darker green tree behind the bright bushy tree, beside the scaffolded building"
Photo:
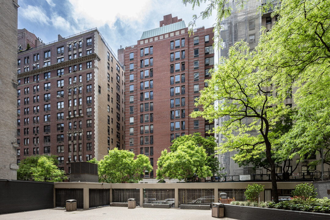
[[[205,149],[205,152],[207,153],[206,165],[210,167],[212,175],[221,175],[220,171],[222,170],[222,168],[219,167],[219,161],[215,157],[215,149],[217,148],[217,146],[215,138],[213,136],[203,138],[198,132],[193,133],[192,135],[180,136],[172,141],[173,144],[172,146],[170,146],[171,152],[176,151],[177,148],[186,141],[193,141],[195,145],[203,147]]]

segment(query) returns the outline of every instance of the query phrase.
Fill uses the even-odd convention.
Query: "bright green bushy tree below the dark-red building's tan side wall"
[[[143,154],[137,155],[128,150],[110,150],[103,160],[98,162],[99,176],[102,182],[124,183],[142,180],[144,171],[152,171],[149,158]]]

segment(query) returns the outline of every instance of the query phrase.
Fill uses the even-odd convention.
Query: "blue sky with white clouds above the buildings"
[[[172,14],[188,26],[194,14],[181,0],[18,0],[18,29],[26,28],[44,43],[97,27],[116,51],[137,43],[143,31],[159,27],[164,15]],[[215,16],[199,19],[196,26],[211,27]]]

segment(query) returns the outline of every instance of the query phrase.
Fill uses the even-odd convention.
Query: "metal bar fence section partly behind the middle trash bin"
[[[128,199],[135,199],[140,206],[140,189],[112,189],[113,203],[128,203]]]

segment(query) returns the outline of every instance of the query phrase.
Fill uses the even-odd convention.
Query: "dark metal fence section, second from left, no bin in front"
[[[110,205],[110,189],[89,189],[89,207]]]

